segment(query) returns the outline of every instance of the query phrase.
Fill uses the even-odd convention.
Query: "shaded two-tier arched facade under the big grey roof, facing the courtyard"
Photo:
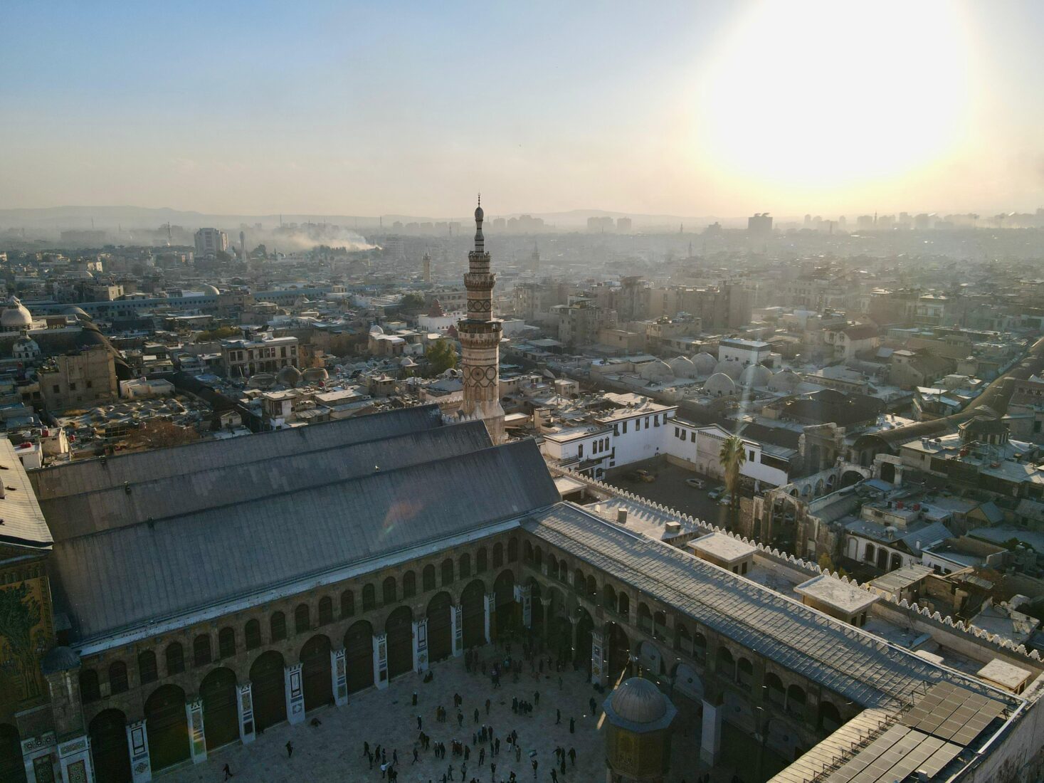
[[[85,780],[94,769],[115,783],[151,780],[494,641],[522,614],[519,539],[478,543],[87,658],[73,678],[87,728]],[[28,783],[38,781],[34,755],[23,754]],[[61,775],[75,779],[65,764]]]

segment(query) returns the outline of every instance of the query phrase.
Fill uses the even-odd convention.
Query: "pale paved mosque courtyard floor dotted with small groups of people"
[[[480,650],[483,659],[498,655],[489,646]],[[556,768],[560,781],[602,781],[606,779],[604,737],[601,702],[606,693],[598,693],[588,682],[585,672],[575,672],[570,666],[567,671],[531,673],[529,664],[524,664],[524,673],[501,678],[501,686],[494,689],[488,675],[468,673],[464,659],[456,658],[432,664],[433,680],[422,682],[417,674],[405,674],[393,681],[386,690],[367,689],[350,697],[349,704],[333,706],[309,712],[305,721],[296,726],[281,723],[266,730],[246,745],[233,742],[211,751],[208,760],[193,764],[186,762],[157,776],[166,783],[189,783],[195,781],[223,780],[223,766],[228,764],[237,783],[312,783],[319,781],[381,780],[379,764],[371,768],[363,755],[363,741],[371,749],[381,745],[387,749],[388,761],[393,751],[398,753],[398,780],[402,783],[440,783],[443,774],[452,764],[452,780],[470,781],[475,778],[485,781],[506,781],[514,772],[519,781],[551,781],[551,768]],[[418,706],[411,705],[413,691],[418,693]],[[535,692],[540,692],[536,704]],[[457,711],[453,709],[454,694],[464,699],[462,726],[457,725]],[[518,697],[533,704],[528,714],[516,714],[512,710],[512,699]],[[598,705],[598,714],[592,715],[590,699]],[[485,699],[491,702],[489,715],[485,714]],[[763,780],[745,768],[753,763],[751,745],[754,740],[740,735],[731,727],[726,727],[722,735],[722,759],[714,769],[699,763],[699,719],[690,703],[685,698],[674,699],[679,714],[674,719],[671,767],[666,780],[671,783],[696,779],[710,772],[711,779],[731,781],[739,775],[744,783]],[[684,704],[682,704],[684,703]],[[438,707],[445,707],[449,715],[445,722],[435,719]],[[475,709],[479,710],[478,723],[474,720]],[[562,711],[560,723],[555,722],[556,710]],[[431,737],[432,748],[438,741],[449,749],[452,740],[460,740],[471,748],[467,761],[467,775],[461,778],[462,757],[454,757],[447,750],[445,759],[437,759],[432,751],[418,746],[417,718],[421,716],[423,731]],[[313,726],[313,718],[318,721]],[[574,720],[574,733],[570,733],[570,718]],[[500,753],[490,757],[485,743],[485,760],[479,765],[479,748],[482,742],[472,744],[472,734],[481,725],[492,727],[500,738]],[[512,731],[518,732],[520,758],[506,742]],[[287,757],[286,743],[293,745],[292,757]],[[413,749],[418,746],[419,759],[413,763]],[[575,765],[567,760],[563,775],[557,768],[555,748],[576,751]],[[532,761],[538,762],[533,777]],[[493,777],[491,761],[496,763]],[[736,766],[737,762],[740,764]],[[778,766],[778,765],[777,765]],[[102,770],[99,770],[102,772]],[[744,775],[744,773],[748,773]],[[99,781],[104,780],[103,772]]]

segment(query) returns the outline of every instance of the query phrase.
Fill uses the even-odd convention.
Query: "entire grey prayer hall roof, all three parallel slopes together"
[[[430,412],[235,438],[234,453],[194,444],[191,459],[167,449],[72,464],[78,493],[45,500],[72,646],[85,655],[442,551],[559,501],[535,442],[494,447],[481,422],[443,426]],[[418,417],[432,426],[411,431]],[[61,470],[42,485],[65,485]]]

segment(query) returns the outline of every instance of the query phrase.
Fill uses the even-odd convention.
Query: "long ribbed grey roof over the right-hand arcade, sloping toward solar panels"
[[[958,675],[750,579],[567,503],[523,526],[708,627],[864,707]],[[982,690],[973,680],[965,687]]]

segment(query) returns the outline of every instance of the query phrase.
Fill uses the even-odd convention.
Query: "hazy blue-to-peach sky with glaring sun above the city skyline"
[[[6,0],[0,207],[1044,206],[1044,2]]]

